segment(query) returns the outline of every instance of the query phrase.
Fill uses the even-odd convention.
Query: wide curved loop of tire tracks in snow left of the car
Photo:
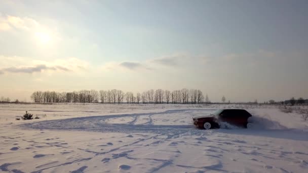
[[[40,121],[34,123],[21,124],[19,126],[34,129],[56,129],[66,131],[90,131],[90,132],[120,132],[120,133],[157,133],[161,134],[170,131],[186,132],[187,130],[194,130],[195,127],[187,123],[187,125],[154,125],[153,115],[171,114],[184,111],[209,111],[210,109],[181,109],[181,110],[167,110],[156,113],[137,113],[137,114],[119,114],[106,116],[88,116],[78,118],[68,118],[59,120]],[[138,117],[148,116],[149,121],[144,124],[134,124]],[[129,123],[107,123],[109,118],[134,117]]]

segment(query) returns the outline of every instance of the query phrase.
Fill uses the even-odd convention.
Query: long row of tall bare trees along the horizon
[[[201,90],[148,90],[134,95],[122,90],[81,90],[74,92],[36,91],[31,95],[35,103],[143,103],[143,104],[200,104],[204,101]],[[208,96],[206,96],[208,101]]]

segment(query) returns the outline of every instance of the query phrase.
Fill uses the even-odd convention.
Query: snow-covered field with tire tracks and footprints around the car
[[[191,117],[244,108],[250,129]],[[41,119],[15,120],[25,111]],[[307,172],[308,123],[276,107],[0,104],[0,172]]]

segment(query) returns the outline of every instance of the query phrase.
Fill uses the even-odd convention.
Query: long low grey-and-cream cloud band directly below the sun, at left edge
[[[0,56],[0,59],[3,60],[3,63],[0,62],[0,74],[41,73],[44,71],[79,72],[88,69],[89,66],[88,62],[78,58],[57,59],[53,62],[30,60],[22,57]]]

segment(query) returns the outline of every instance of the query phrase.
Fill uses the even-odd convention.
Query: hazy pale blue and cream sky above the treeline
[[[0,1],[0,96],[200,89],[308,98],[308,1]]]

